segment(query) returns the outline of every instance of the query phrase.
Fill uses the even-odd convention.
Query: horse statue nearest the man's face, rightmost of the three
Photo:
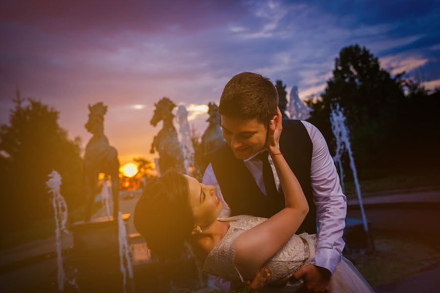
[[[225,143],[220,130],[219,106],[216,105],[216,103],[209,103],[208,114],[209,118],[206,120],[206,122],[209,123],[209,126],[203,133],[201,140],[201,149],[205,157],[209,152],[215,150]]]

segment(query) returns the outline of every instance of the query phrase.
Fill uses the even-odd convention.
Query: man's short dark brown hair
[[[220,115],[233,118],[257,119],[267,123],[277,114],[278,92],[265,76],[242,72],[225,85],[220,98]]]

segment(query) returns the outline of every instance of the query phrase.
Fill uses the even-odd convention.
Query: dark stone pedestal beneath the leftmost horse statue
[[[130,214],[123,214],[127,223]],[[120,272],[118,223],[103,217],[93,222],[79,222],[71,227],[73,233],[72,264],[82,293],[124,292]],[[132,292],[127,277],[127,292]]]

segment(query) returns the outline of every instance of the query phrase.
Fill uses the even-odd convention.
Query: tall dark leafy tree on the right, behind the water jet
[[[379,60],[365,47],[344,47],[335,59],[333,77],[323,95],[317,101],[308,101],[313,108],[308,121],[321,130],[331,151],[330,108],[335,103],[344,108],[360,173],[366,174],[363,169],[369,167],[375,175],[384,166],[400,170],[402,159],[415,151],[410,146],[414,146],[411,140],[419,137],[418,122],[426,124],[428,121],[422,117],[433,117],[426,107],[438,101],[428,99],[423,87],[403,76],[393,77],[380,68]]]

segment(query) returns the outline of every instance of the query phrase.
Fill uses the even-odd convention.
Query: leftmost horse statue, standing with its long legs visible
[[[90,221],[98,174],[105,173],[111,178],[111,193],[113,195],[113,219],[116,220],[119,205],[119,160],[118,153],[104,135],[104,115],[107,106],[103,103],[88,105],[88,122],[86,129],[93,134],[86,146],[84,169],[86,173],[86,221]]]

